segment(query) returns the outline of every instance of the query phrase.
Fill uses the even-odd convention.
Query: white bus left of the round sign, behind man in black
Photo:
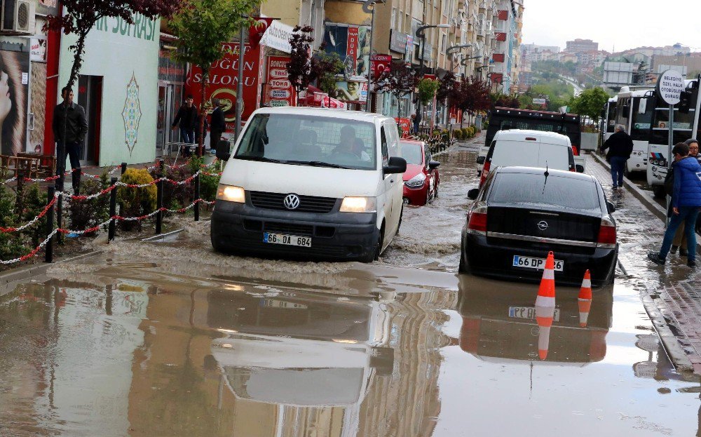
[[[623,171],[629,177],[631,173],[647,171],[655,89],[651,86],[624,86],[616,98],[613,127],[622,124],[633,139],[633,153]]]

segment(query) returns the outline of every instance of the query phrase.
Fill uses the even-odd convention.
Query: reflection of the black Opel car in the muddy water
[[[538,285],[503,283],[461,275],[459,344],[484,361],[538,360],[538,323],[533,308]],[[599,288],[580,325],[578,288],[558,288],[547,362],[601,361],[611,328],[613,288]]]

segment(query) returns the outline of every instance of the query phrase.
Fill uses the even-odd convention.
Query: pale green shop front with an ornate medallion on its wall
[[[86,39],[74,86],[88,118],[83,163],[112,166],[156,158],[160,25],[139,13],[133,21],[102,18]],[[75,42],[76,36],[62,35],[59,93],[69,79],[73,53],[68,48]]]

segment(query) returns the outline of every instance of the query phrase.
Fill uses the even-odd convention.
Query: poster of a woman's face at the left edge
[[[28,82],[29,53],[0,51],[0,144],[4,155],[25,151]]]

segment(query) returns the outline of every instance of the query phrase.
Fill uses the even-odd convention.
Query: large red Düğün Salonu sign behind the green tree
[[[257,109],[261,97],[260,67],[261,50],[250,48],[246,43],[243,65],[243,108],[241,119],[247,120]],[[236,86],[238,84],[238,43],[222,44],[224,58],[218,60],[210,69],[210,81],[205,88],[205,96],[211,102],[218,98],[224,105],[226,132],[233,132],[236,123]],[[192,94],[195,105],[200,105],[200,86],[202,70],[192,67],[185,82],[185,93]],[[210,109],[211,111],[211,109]]]

